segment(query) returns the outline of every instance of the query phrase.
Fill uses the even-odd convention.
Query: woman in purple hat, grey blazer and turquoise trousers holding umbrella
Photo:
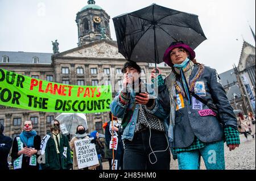
[[[172,71],[162,85],[167,88],[159,94],[160,103],[170,110],[168,133],[179,169],[200,169],[202,155],[207,169],[222,170],[224,141],[230,151],[240,145],[237,120],[217,71],[195,57],[182,41],[166,50],[163,59]],[[157,78],[163,82],[161,75]]]

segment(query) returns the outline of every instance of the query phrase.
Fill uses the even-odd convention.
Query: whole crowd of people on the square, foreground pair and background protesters
[[[97,131],[90,133],[99,164],[85,170],[102,170],[103,158],[110,170],[170,170],[171,154],[180,170],[200,169],[201,157],[207,169],[225,169],[224,144],[232,151],[240,145],[240,133],[254,138],[255,117],[250,112],[237,118],[217,71],[195,57],[182,41],[171,43],[163,57],[170,75],[163,79],[161,70],[154,69],[152,83],[142,81],[136,62],[125,63],[123,89],[110,104],[109,121],[103,125],[105,143]],[[43,140],[30,120],[14,140],[3,136],[3,130],[1,125],[0,169],[8,169],[12,147],[14,169],[79,170],[75,141],[89,138],[78,125],[69,141],[57,120]],[[44,163],[36,162],[39,155],[44,155]]]

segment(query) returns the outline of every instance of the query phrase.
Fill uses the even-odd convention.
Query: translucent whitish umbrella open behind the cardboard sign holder
[[[61,113],[55,118],[60,122],[60,129],[63,134],[76,134],[78,125],[83,125],[88,129],[87,119],[84,113]]]

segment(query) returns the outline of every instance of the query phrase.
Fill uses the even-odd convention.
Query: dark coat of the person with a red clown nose
[[[19,136],[17,136],[19,137]],[[18,141],[17,137],[14,138],[13,140],[13,148],[11,150],[11,158],[12,161],[14,162],[15,159],[19,158],[20,155],[18,155]],[[40,145],[41,145],[41,137],[39,135],[36,135],[34,137],[34,148],[36,150],[40,150]],[[25,145],[23,144],[23,148]],[[38,160],[39,154],[36,154],[36,160]],[[30,157],[26,157],[26,155],[23,155],[22,157],[22,170],[39,170],[39,163],[36,162],[36,166],[31,166],[30,165]]]

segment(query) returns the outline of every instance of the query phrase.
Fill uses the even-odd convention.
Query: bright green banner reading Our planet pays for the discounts
[[[75,86],[48,82],[0,69],[0,104],[43,112],[110,111],[111,86]]]

